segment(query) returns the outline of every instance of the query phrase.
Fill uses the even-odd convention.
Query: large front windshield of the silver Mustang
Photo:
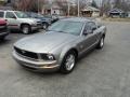
[[[60,20],[49,27],[49,31],[64,32],[79,36],[82,29],[83,23]]]

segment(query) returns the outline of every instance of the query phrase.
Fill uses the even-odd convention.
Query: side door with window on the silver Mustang
[[[82,52],[91,48],[96,42],[96,27],[92,22],[86,24],[83,32],[82,32]]]

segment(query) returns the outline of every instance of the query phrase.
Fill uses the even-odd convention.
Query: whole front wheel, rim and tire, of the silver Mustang
[[[62,73],[70,73],[76,66],[76,54],[75,52],[68,52],[62,63],[61,72]]]

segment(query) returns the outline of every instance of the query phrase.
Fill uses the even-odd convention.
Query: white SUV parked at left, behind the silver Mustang
[[[39,19],[29,18],[25,13],[20,11],[1,10],[0,18],[4,18],[8,22],[9,29],[21,30],[23,33],[29,33],[41,26]]]

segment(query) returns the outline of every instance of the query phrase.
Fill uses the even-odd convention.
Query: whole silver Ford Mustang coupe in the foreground
[[[53,24],[46,33],[17,41],[13,57],[23,67],[34,71],[69,73],[77,59],[93,47],[104,45],[106,27],[95,22],[74,17]]]

